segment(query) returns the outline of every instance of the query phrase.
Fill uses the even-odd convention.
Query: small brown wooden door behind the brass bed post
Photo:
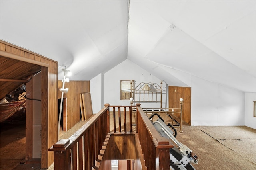
[[[191,88],[168,86],[168,92],[169,108],[180,108],[180,98],[184,99],[182,120],[191,125]]]

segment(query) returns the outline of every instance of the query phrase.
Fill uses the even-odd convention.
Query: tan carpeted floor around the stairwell
[[[84,123],[77,123],[60,139],[67,139]],[[246,126],[183,125],[183,132],[178,132],[176,139],[197,154],[199,162],[193,164],[197,170],[256,169],[256,129]],[[54,170],[54,165],[48,170]]]

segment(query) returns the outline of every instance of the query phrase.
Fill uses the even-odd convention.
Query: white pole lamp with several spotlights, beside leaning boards
[[[61,119],[61,112],[62,112],[63,95],[64,95],[64,93],[68,92],[68,88],[64,88],[65,82],[69,82],[69,78],[66,78],[66,76],[71,76],[71,71],[66,70],[66,66],[65,66],[65,68],[62,68],[62,71],[64,72],[64,78],[62,80],[62,82],[63,82],[62,88],[60,89],[61,99],[60,99],[60,113],[59,113],[59,121],[58,121],[58,137],[59,137],[59,133],[60,133],[60,119]]]

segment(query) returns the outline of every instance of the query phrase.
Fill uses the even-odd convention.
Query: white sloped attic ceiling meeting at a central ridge
[[[256,92],[255,0],[0,1],[0,39],[90,80],[130,59],[169,85],[186,78]]]

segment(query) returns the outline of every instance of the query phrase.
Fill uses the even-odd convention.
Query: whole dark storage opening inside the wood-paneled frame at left
[[[40,167],[42,66],[2,55],[0,60],[1,169],[31,161]]]

